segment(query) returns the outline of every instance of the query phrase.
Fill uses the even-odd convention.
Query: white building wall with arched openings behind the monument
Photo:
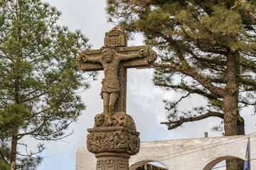
[[[139,154],[129,159],[129,170],[146,162],[159,162],[169,170],[208,170],[230,157],[245,159],[247,139],[251,143],[251,164],[256,168],[256,135],[208,137],[185,140],[142,142]],[[95,169],[94,154],[80,147],[77,152],[76,170]]]

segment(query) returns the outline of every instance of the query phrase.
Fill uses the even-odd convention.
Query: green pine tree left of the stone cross
[[[36,169],[45,147],[30,152],[23,139],[62,139],[85,109],[77,92],[94,73],[85,77],[75,57],[87,38],[58,26],[59,16],[40,0],[0,0],[1,170]]]

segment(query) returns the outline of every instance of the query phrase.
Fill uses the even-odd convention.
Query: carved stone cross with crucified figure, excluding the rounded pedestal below
[[[105,116],[126,113],[127,69],[148,68],[156,60],[151,47],[127,47],[127,34],[119,27],[105,33],[104,46],[99,50],[82,51],[76,64],[85,72],[104,70],[101,96]]]

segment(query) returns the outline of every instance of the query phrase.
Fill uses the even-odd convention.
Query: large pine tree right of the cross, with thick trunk
[[[159,50],[156,86],[185,94],[176,102],[165,101],[169,121],[164,124],[169,130],[218,117],[225,135],[245,134],[240,110],[256,104],[255,4],[246,0],[108,0],[110,21],[117,18],[127,32],[143,33],[146,44]],[[178,103],[192,95],[203,96],[208,103],[181,111]],[[229,169],[233,163],[227,162]]]

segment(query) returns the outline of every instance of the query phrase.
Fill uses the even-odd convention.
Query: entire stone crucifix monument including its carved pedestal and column
[[[127,47],[127,34],[118,27],[106,33],[100,50],[83,51],[76,64],[85,72],[104,70],[103,113],[87,129],[87,149],[97,157],[96,170],[128,170],[129,157],[139,152],[139,132],[126,113],[127,69],[148,68],[156,52],[146,45]]]

